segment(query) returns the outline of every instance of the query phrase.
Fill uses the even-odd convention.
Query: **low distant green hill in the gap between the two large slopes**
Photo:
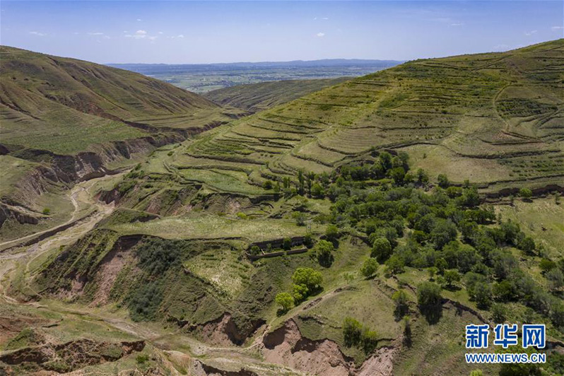
[[[259,112],[298,99],[322,88],[327,88],[327,86],[334,86],[348,79],[351,78],[320,78],[317,80],[251,83],[208,91],[208,93],[203,95],[219,105],[228,105],[250,112]]]

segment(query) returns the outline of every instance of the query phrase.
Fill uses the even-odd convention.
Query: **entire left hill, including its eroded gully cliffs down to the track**
[[[71,218],[74,182],[245,113],[88,61],[4,46],[0,56],[3,240]]]

